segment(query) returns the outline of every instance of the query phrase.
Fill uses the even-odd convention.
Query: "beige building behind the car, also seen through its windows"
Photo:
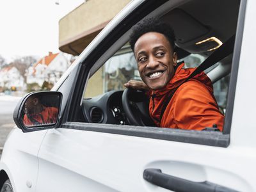
[[[99,32],[131,0],[87,0],[68,13],[59,22],[59,49],[73,55],[79,55]],[[97,86],[95,86],[97,84]],[[93,75],[88,84],[93,97],[104,93],[104,68]]]

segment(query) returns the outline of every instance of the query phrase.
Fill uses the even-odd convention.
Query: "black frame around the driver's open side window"
[[[151,3],[154,6],[150,5]],[[239,16],[237,19],[237,30],[236,30],[236,42],[234,45],[234,54],[232,58],[232,69],[230,76],[230,84],[228,86],[228,99],[227,99],[227,113],[225,116],[225,122],[223,127],[223,132],[214,131],[188,131],[180,129],[169,129],[159,127],[140,127],[133,125],[112,125],[112,124],[91,124],[91,123],[79,123],[81,113],[81,98],[83,98],[84,84],[86,83],[86,78],[90,74],[90,70],[93,64],[97,61],[97,58],[102,56],[105,51],[113,45],[112,42],[118,40],[122,35],[124,35],[132,26],[132,24],[138,22],[143,17],[151,13],[153,10],[159,6],[166,3],[166,1],[157,1],[154,3],[145,4],[141,3],[138,8],[133,10],[127,17],[124,18],[116,28],[113,29],[111,33],[95,48],[94,51],[85,58],[81,63],[81,68],[77,76],[77,81],[75,81],[75,90],[72,99],[72,106],[68,110],[68,118],[61,128],[66,129],[79,129],[84,131],[95,131],[95,132],[105,132],[111,134],[122,134],[127,136],[136,136],[142,138],[153,138],[157,140],[168,140],[168,141],[179,141],[183,143],[195,143],[200,145],[210,145],[215,147],[228,147],[230,143],[230,129],[232,122],[232,113],[234,106],[234,97],[236,92],[236,82],[237,82],[237,72],[239,67],[239,58],[241,52],[241,43],[243,40],[243,29],[244,29],[244,17],[246,10],[246,0],[240,1],[239,6]],[[144,6],[147,5],[147,6]],[[151,7],[150,7],[151,6]],[[138,14],[140,10],[140,14]],[[71,101],[70,101],[71,102]],[[164,131],[163,131],[164,129]]]

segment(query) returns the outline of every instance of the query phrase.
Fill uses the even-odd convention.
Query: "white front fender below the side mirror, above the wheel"
[[[15,127],[4,143],[0,170],[4,170],[13,185],[14,191],[35,190],[38,174],[38,151],[48,130],[24,134]],[[24,163],[27,166],[24,166]],[[28,185],[31,184],[29,188]]]

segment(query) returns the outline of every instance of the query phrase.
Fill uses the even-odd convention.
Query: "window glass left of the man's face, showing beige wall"
[[[124,83],[130,79],[140,80],[140,74],[132,50],[125,45],[89,79],[84,97],[124,90]]]

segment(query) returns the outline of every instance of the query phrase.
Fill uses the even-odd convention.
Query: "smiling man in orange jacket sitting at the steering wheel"
[[[132,28],[130,44],[142,81],[127,88],[148,90],[149,111],[159,127],[203,130],[223,129],[212,83],[204,72],[184,81],[195,68],[177,65],[173,29],[156,19],[145,19]]]

